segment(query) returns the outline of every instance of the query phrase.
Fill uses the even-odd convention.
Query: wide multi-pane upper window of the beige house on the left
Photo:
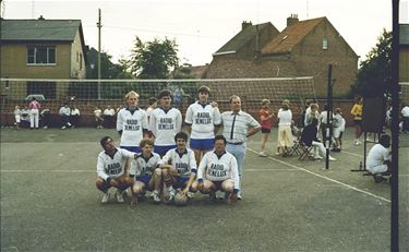
[[[27,64],[56,64],[56,47],[28,46]]]

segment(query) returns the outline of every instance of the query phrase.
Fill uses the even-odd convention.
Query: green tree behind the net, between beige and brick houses
[[[166,79],[178,65],[178,45],[175,40],[143,43],[137,36],[132,49],[131,73],[139,79]]]

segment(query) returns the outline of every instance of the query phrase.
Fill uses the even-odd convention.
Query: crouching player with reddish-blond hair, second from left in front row
[[[141,155],[132,161],[130,176],[135,181],[132,187],[133,199],[131,203],[137,204],[139,199],[144,197],[146,190],[153,191],[155,203],[160,203],[159,191],[161,170],[158,168],[160,156],[153,153],[154,141],[143,139],[140,143]]]

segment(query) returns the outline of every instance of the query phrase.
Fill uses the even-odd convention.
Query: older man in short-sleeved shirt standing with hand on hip
[[[241,181],[243,175],[244,156],[246,151],[246,140],[262,129],[260,123],[249,113],[241,110],[241,99],[233,95],[230,97],[231,111],[221,113],[222,135],[227,140],[226,151],[231,153],[238,164],[240,183],[238,200],[242,199]]]

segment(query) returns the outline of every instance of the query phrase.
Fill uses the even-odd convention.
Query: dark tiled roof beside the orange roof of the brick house
[[[244,29],[240,31],[240,33],[238,33],[228,43],[226,43],[218,51],[216,51],[216,53],[238,51],[246,43],[249,43],[251,39],[255,37],[257,33],[256,26],[257,25],[249,25]],[[267,23],[258,24],[258,32],[267,26],[272,26],[273,28],[275,28],[272,23],[267,22]]]

